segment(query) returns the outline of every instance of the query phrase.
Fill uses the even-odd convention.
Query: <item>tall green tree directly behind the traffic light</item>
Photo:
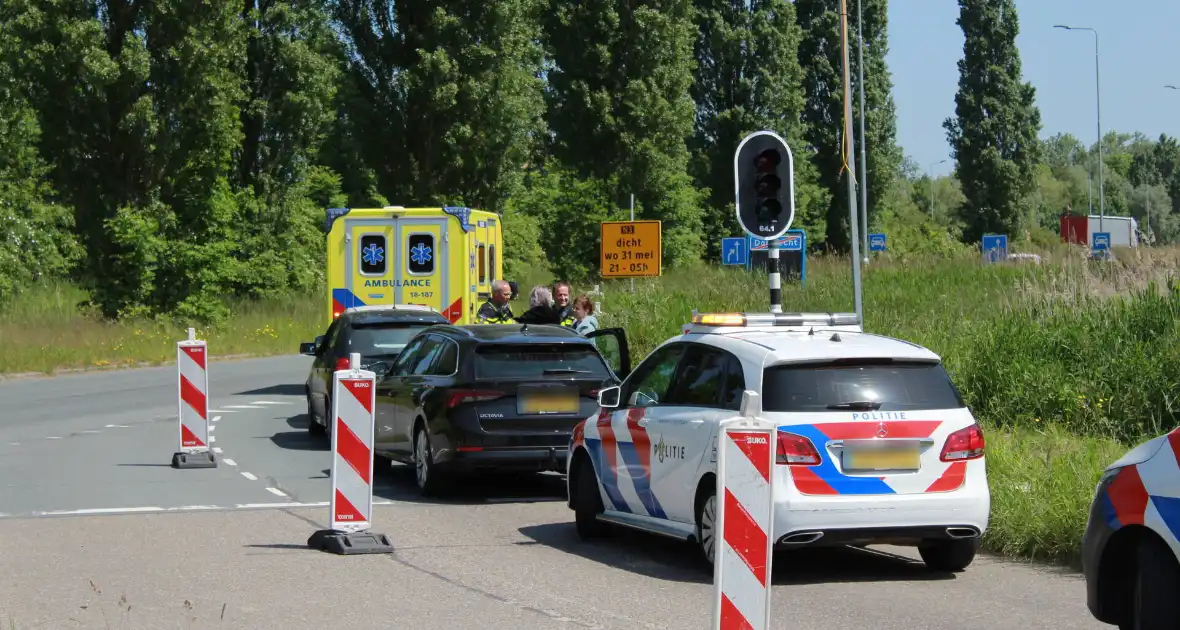
[[[747,133],[768,129],[795,155],[794,227],[813,228],[819,196],[800,114],[802,68],[795,8],[787,0],[697,0],[695,132],[689,146],[696,185],[708,195],[706,252],[717,260],[721,238],[740,234],[734,216],[734,151]],[[826,204],[825,204],[826,210]]]

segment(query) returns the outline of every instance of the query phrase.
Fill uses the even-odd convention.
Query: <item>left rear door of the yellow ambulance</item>
[[[333,300],[343,308],[394,304],[399,219],[346,217],[343,222],[345,287],[332,290]]]

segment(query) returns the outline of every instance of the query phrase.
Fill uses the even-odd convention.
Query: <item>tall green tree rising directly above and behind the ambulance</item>
[[[348,136],[393,203],[499,210],[519,184],[543,132],[539,2],[332,2]]]

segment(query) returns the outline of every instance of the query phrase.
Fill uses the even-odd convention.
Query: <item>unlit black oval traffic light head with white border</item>
[[[734,153],[738,222],[750,236],[782,236],[795,218],[794,160],[773,131],[746,136]]]

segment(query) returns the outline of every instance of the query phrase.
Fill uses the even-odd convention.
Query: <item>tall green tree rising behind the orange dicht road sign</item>
[[[552,155],[577,177],[663,222],[664,262],[700,260],[701,199],[688,175],[693,134],[690,0],[550,0]],[[579,247],[585,247],[583,243]]]

